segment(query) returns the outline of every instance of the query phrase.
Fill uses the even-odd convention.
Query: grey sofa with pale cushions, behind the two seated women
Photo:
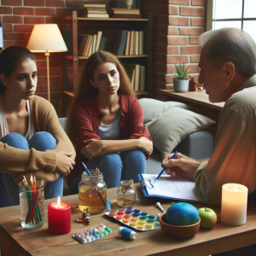
[[[140,99],[143,107],[143,123],[154,143],[154,151],[146,161],[146,172],[158,174],[164,155],[178,151],[196,160],[211,157],[213,137],[208,126],[214,121],[200,114],[189,111],[189,106],[180,102],[161,102],[154,99]],[[59,118],[63,129],[66,129],[67,118]],[[3,188],[0,173],[0,193]],[[71,195],[66,178],[63,195]],[[3,195],[3,194],[2,194]],[[8,196],[0,197],[0,207],[7,207]]]

